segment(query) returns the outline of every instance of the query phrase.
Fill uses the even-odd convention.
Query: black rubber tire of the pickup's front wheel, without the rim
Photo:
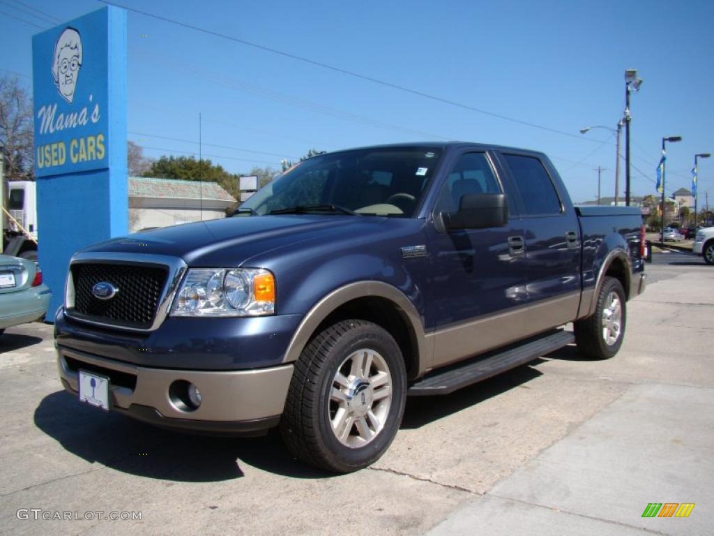
[[[386,395],[377,399],[377,392],[369,385],[367,405],[370,411],[382,412],[381,428],[362,446],[346,446],[343,440],[338,439],[337,432],[333,432],[333,420],[336,420],[336,411],[333,410],[335,402],[331,393],[335,388],[336,374],[343,372],[343,367],[351,364],[354,356],[361,355],[357,350],[368,349],[373,352],[373,359],[368,362],[378,362],[382,369],[388,372],[391,398],[388,405]],[[372,354],[370,354],[372,355]],[[365,359],[367,353],[365,352]],[[371,377],[374,379],[378,369],[366,365],[369,370],[376,371]],[[366,377],[370,377],[367,372]],[[358,377],[350,374],[345,379],[353,378],[351,382],[360,382]],[[377,382],[375,381],[375,384]],[[356,387],[356,391],[349,399],[350,403],[359,406],[362,411],[367,405],[365,397],[361,396],[360,389],[366,389],[363,384]],[[383,385],[376,389],[383,389]],[[382,392],[381,390],[379,392]],[[359,400],[361,399],[361,405]],[[295,371],[288,390],[285,410],[281,417],[281,435],[288,448],[303,462],[331,472],[352,472],[363,469],[383,455],[391,445],[396,432],[401,424],[406,400],[406,369],[398,344],[385,329],[372,322],[364,320],[343,320],[327,327],[313,337],[303,350],[300,358],[295,363]],[[353,415],[347,410],[351,408],[344,402],[346,410],[343,413]],[[339,411],[339,410],[338,410]],[[349,422],[347,419],[345,422]],[[359,417],[362,424],[373,424],[371,417]],[[362,432],[358,430],[357,422],[354,425],[345,425],[346,440],[362,441]],[[353,432],[357,432],[353,434]]]

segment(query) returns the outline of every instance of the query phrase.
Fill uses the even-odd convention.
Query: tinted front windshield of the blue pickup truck
[[[234,214],[413,217],[440,157],[438,147],[380,147],[313,157],[273,179]]]

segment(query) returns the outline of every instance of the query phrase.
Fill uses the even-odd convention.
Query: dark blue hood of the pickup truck
[[[271,249],[321,235],[370,234],[386,218],[332,215],[231,217],[129,234],[81,252],[121,252],[181,257],[189,266],[238,266]]]

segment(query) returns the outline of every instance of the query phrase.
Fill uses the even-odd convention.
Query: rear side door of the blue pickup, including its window
[[[580,227],[555,170],[532,153],[499,158],[518,192],[533,328],[570,322],[580,302]]]

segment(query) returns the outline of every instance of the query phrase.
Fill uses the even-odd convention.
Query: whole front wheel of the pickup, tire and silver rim
[[[295,364],[281,433],[298,458],[333,472],[367,467],[401,423],[406,370],[393,337],[344,320],[314,337]]]

